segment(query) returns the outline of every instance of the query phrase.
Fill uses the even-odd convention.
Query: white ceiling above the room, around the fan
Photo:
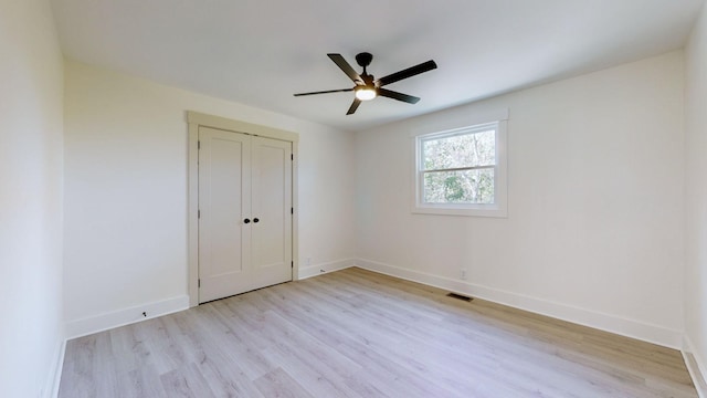
[[[68,59],[358,130],[683,46],[704,0],[52,0]],[[387,86],[363,103],[326,56],[368,51]]]

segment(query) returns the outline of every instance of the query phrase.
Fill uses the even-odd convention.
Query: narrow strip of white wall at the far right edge
[[[707,378],[707,8],[685,54],[685,335]]]

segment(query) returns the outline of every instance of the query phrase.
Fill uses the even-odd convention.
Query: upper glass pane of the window
[[[424,170],[496,164],[496,132],[487,130],[422,142]]]

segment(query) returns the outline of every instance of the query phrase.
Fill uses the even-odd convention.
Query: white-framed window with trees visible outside
[[[415,137],[414,212],[506,216],[506,122]]]

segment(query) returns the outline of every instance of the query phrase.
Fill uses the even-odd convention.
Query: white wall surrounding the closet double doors
[[[187,305],[188,109],[298,133],[300,264],[354,256],[352,134],[81,63],[65,71],[70,336]]]

